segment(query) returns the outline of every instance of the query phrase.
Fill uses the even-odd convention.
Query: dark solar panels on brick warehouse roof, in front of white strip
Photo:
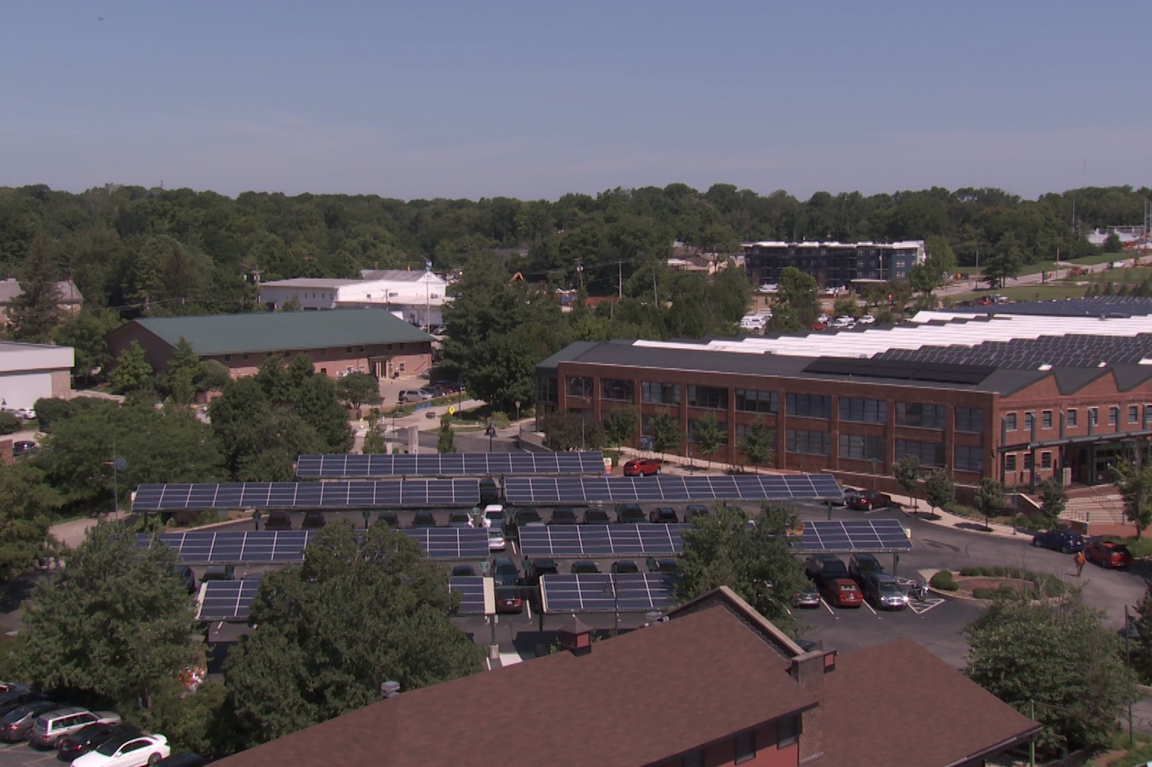
[[[1011,370],[1053,367],[1098,367],[1136,364],[1152,357],[1152,334],[1119,335],[1041,335],[1038,339],[985,341],[972,347],[920,347],[894,349],[872,357],[873,360],[952,363],[986,365]]]

